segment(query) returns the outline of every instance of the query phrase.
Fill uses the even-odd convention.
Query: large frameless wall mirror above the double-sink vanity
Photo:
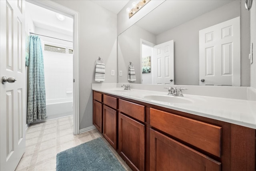
[[[234,18],[238,19],[236,20],[238,22],[238,25],[236,24],[237,29],[234,30],[234,27],[230,27],[230,25],[223,26],[219,35],[220,37],[224,34],[226,37],[228,37],[227,35],[233,37],[235,34],[238,39],[237,44],[240,47],[234,47],[234,42],[227,40],[220,45],[216,52],[209,49],[209,47],[214,47],[213,44],[208,49],[204,48],[201,51],[204,52],[204,58],[207,61],[203,62],[204,67],[202,67],[199,31],[221,25]],[[216,38],[216,34],[208,33],[210,32],[203,34],[206,35],[204,40]],[[167,57],[168,55],[166,55],[161,60],[157,60],[155,56],[158,52],[154,49],[158,45],[172,40],[174,42],[173,48],[169,46],[169,49],[163,48],[162,51],[169,50],[170,56]],[[148,49],[146,52],[144,52],[144,46]],[[171,58],[172,51],[173,60]],[[250,86],[249,53],[250,12],[244,8],[244,0],[166,0],[118,36],[118,70],[122,70],[123,73],[122,76],[118,76],[118,82],[127,82],[128,63],[131,61],[136,73],[135,83]],[[217,63],[218,54],[219,62]],[[150,56],[150,73],[142,74],[142,58],[145,56]],[[228,58],[226,58],[227,56]],[[234,60],[234,56],[238,60]],[[235,61],[239,62],[239,64],[235,64],[236,67],[233,64]],[[205,67],[206,64],[208,64],[207,67]],[[161,74],[159,73],[160,66],[162,68]],[[210,66],[216,68],[209,68]],[[221,78],[230,80],[232,84],[214,81],[207,84],[209,79],[200,76],[200,70],[204,70],[208,72],[209,78],[213,77],[216,75],[215,70],[217,69],[223,76],[235,75],[239,82],[234,84],[232,76]],[[172,70],[173,77],[171,77]],[[210,70],[212,73],[209,74]],[[155,82],[156,77],[159,76],[170,76],[170,78],[168,78],[168,82]],[[202,79],[205,82],[201,82]]]

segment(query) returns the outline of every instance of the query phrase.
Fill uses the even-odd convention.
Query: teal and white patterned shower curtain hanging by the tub
[[[27,108],[27,123],[46,119],[43,52],[40,38],[34,35],[29,37]]]

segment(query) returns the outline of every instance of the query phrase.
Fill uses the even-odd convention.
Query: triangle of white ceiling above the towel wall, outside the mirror
[[[99,6],[118,14],[122,8],[129,2],[129,0],[91,0]]]

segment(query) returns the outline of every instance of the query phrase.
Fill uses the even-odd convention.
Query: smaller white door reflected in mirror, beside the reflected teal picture
[[[174,84],[174,41],[154,46],[154,84]]]

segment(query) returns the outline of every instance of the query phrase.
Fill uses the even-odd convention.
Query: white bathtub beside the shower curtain
[[[46,99],[47,120],[73,115],[73,98]]]

